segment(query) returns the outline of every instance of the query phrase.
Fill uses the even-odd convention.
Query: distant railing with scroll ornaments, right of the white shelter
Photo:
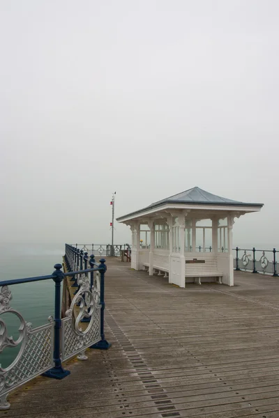
[[[278,252],[273,249],[241,249],[236,247],[236,258],[234,258],[235,270],[243,270],[252,273],[272,274],[277,277],[279,274]]]

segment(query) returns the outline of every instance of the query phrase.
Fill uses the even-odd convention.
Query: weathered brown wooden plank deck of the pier
[[[108,260],[108,351],[10,396],[0,417],[279,417],[279,277],[188,284]]]

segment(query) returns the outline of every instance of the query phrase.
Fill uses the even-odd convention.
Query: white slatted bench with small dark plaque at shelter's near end
[[[218,271],[217,261],[213,258],[192,258],[185,261],[185,277],[193,277],[197,284],[201,284],[202,277],[216,277],[217,283],[222,284],[223,273]]]

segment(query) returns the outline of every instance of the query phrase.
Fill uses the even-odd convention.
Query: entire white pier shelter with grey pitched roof
[[[262,203],[225,199],[193,187],[116,219],[132,231],[131,267],[165,274],[169,283],[234,285],[234,219]]]

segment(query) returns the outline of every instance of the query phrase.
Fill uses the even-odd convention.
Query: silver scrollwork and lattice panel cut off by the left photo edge
[[[0,353],[4,348],[16,346],[20,346],[20,351],[8,367],[2,368],[0,365],[1,409],[9,406],[5,401],[8,392],[54,366],[53,318],[50,316],[48,324],[32,329],[32,324],[27,323],[20,312],[10,307],[11,299],[8,286],[3,286],[0,293],[0,316],[4,313],[16,316],[20,320],[20,335],[16,341],[13,336],[8,336],[6,323],[0,317]]]

